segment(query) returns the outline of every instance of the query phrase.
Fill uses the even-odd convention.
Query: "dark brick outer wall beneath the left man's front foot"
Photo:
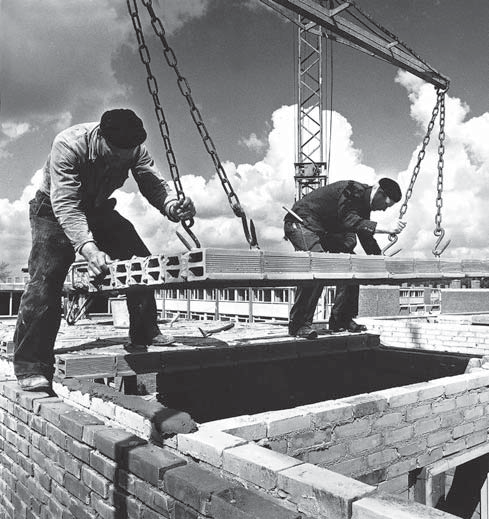
[[[0,517],[300,517],[277,500],[118,426],[132,421],[134,411],[124,415],[100,395],[59,385],[57,390],[73,403],[0,381]],[[98,409],[99,417],[89,409]],[[137,427],[147,420],[140,418]],[[149,432],[142,428],[143,435]]]

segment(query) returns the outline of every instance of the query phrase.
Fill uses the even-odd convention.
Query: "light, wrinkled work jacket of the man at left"
[[[177,200],[143,144],[121,159],[104,152],[101,139],[99,123],[72,126],[55,137],[43,168],[40,190],[50,197],[54,215],[77,252],[94,241],[87,216],[107,204],[129,171],[142,195],[162,214],[168,216]]]

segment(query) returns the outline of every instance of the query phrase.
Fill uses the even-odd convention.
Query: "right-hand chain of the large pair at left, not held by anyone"
[[[212,138],[209,135],[207,127],[200,114],[200,111],[197,108],[197,106],[195,105],[195,102],[192,98],[190,85],[188,84],[187,79],[184,76],[182,76],[182,74],[180,73],[180,70],[179,70],[178,64],[177,64],[177,58],[175,56],[173,49],[168,44],[168,40],[166,39],[166,36],[165,36],[165,29],[163,27],[163,24],[153,9],[153,2],[152,2],[152,0],[141,0],[141,1],[144,4],[144,6],[146,7],[146,9],[148,10],[148,13],[151,17],[151,25],[153,27],[153,30],[161,41],[161,44],[163,46],[163,54],[165,56],[166,62],[168,63],[169,67],[174,70],[174,72],[177,76],[178,88],[180,89],[180,92],[187,100],[187,103],[190,108],[190,115],[192,116],[195,126],[197,127],[197,131],[199,132],[199,135],[202,138],[202,142],[204,144],[206,151],[209,153],[209,155],[212,158],[212,161],[216,168],[216,172],[219,176],[219,179],[221,180],[221,184],[224,189],[224,192],[226,193],[226,195],[228,197],[229,205],[231,206],[231,209],[233,210],[234,214],[238,218],[241,218],[241,221],[243,224],[243,231],[245,233],[246,240],[249,243],[250,247],[259,248],[258,242],[256,239],[256,232],[255,232],[255,226],[254,226],[253,220],[250,219],[250,226],[248,228],[246,214],[245,214],[243,208],[241,207],[241,203],[238,199],[238,196],[234,192],[233,187],[231,186],[231,183],[229,182],[229,179],[226,175],[226,172],[225,172],[225,170],[222,166],[222,163],[219,159],[219,156],[217,154],[217,150],[214,145],[214,142],[212,141]],[[131,16],[132,16],[132,14],[131,14]]]

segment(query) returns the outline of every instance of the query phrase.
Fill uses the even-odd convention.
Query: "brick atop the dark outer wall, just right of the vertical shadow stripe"
[[[184,458],[153,445],[141,445],[124,453],[122,465],[144,481],[159,487],[166,471],[185,465]]]

